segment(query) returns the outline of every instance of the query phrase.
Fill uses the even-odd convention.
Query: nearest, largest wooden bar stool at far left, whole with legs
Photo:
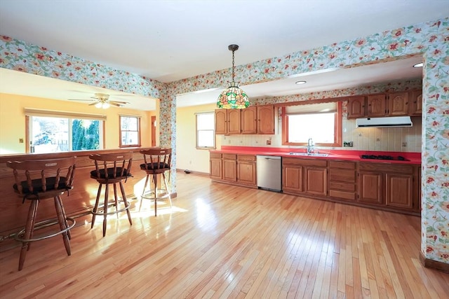
[[[25,228],[15,235],[15,239],[22,242],[20,250],[19,271],[22,270],[25,263],[25,257],[30,247],[30,242],[40,241],[56,235],[62,235],[65,250],[70,256],[71,238],[69,230],[74,227],[73,218],[67,218],[61,195],[66,191],[73,189],[73,180],[75,174],[75,157],[32,160],[32,161],[8,161],[6,165],[13,169],[15,184],[13,185],[15,193],[22,196],[22,203],[25,200],[30,201],[27,222]],[[67,171],[67,172],[66,172]],[[65,176],[63,176],[65,174]],[[67,193],[68,194],[68,193]],[[57,221],[49,219],[36,223],[37,208],[41,200],[53,198],[55,201],[55,210]],[[57,232],[46,232],[45,235],[34,237],[34,231],[41,228],[59,224],[60,230]]]

